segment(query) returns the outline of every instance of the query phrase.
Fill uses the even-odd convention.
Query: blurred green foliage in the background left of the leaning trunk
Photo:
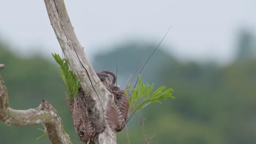
[[[72,141],[81,143],[66,103],[67,89],[59,76],[59,65],[53,58],[49,61],[39,53],[20,57],[11,52],[8,45],[0,42],[0,63],[5,64],[1,74],[8,89],[11,108],[30,109],[37,107],[42,99],[47,100],[59,112]],[[51,143],[48,136],[36,140],[42,135],[38,128],[44,129],[42,125],[15,127],[0,122],[0,143]]]

